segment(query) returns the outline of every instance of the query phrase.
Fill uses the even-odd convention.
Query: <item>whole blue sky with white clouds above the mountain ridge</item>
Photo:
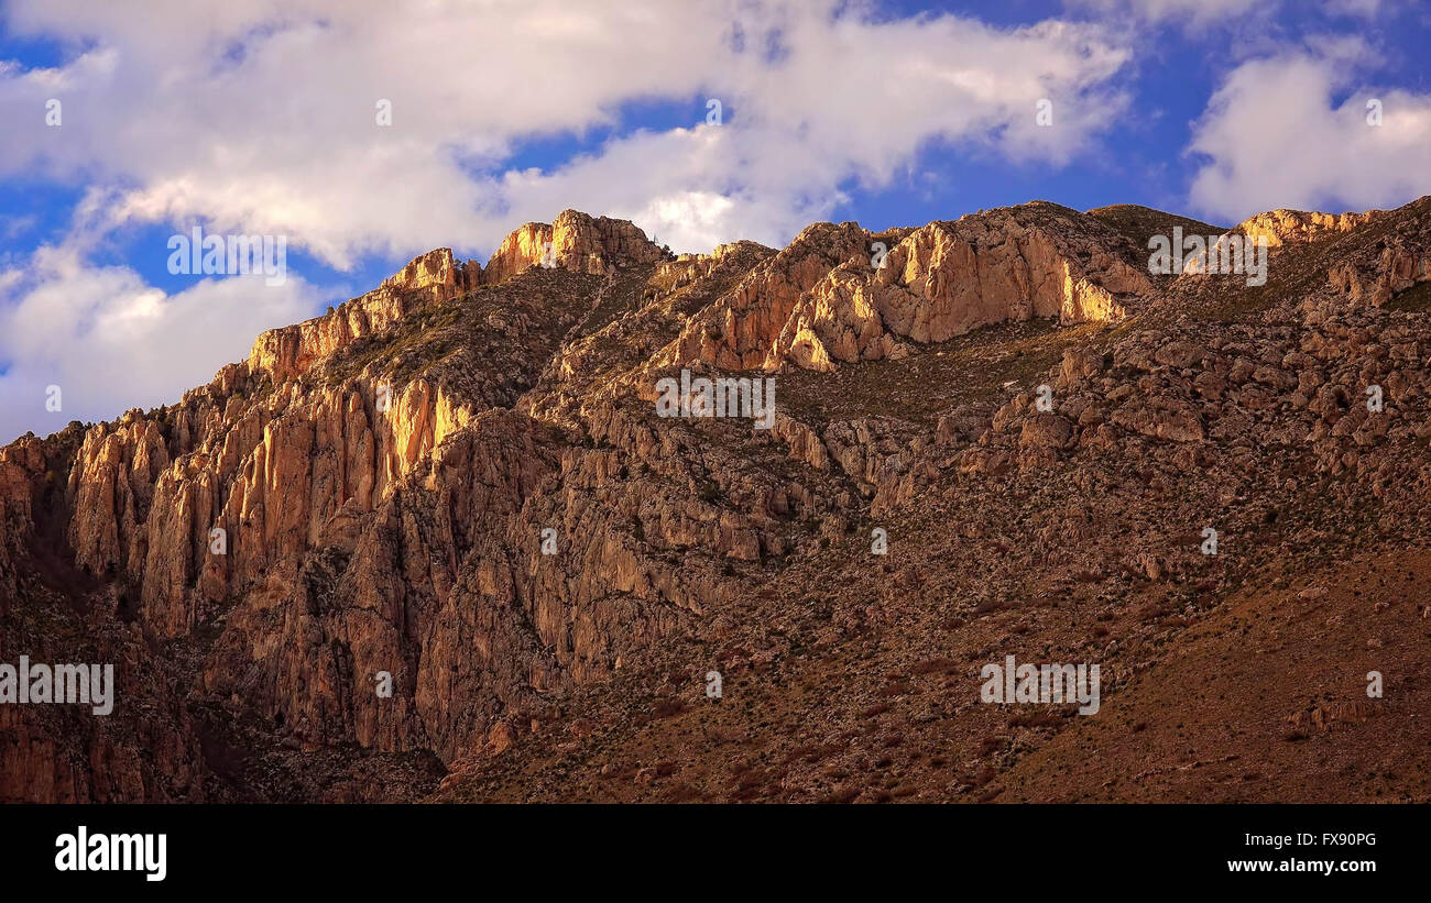
[[[1421,0],[0,0],[0,443],[568,207],[675,251],[1397,207],[1431,193],[1427,47]],[[185,271],[196,227],[282,279]]]

